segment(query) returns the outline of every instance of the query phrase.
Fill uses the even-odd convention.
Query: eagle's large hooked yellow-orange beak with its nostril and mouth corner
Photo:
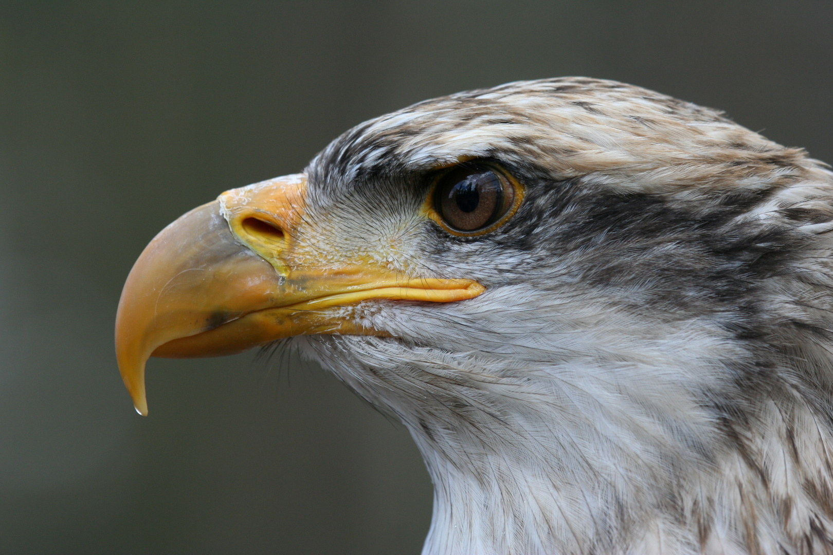
[[[226,191],[168,225],[142,251],[122,290],[116,357],[147,415],[151,356],[232,354],[300,334],[376,334],[345,310],[368,299],[451,302],[484,288],[471,280],[408,278],[372,262],[292,267],[306,176]],[[337,240],[337,238],[333,238]]]

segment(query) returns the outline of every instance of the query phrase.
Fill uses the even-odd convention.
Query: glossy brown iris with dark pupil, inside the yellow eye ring
[[[436,184],[437,213],[449,227],[480,230],[498,221],[515,200],[511,184],[489,166],[457,166]]]

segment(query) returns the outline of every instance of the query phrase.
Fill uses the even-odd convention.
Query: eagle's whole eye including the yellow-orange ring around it
[[[465,161],[431,178],[422,211],[451,235],[473,237],[496,230],[515,215],[524,186],[491,161]]]

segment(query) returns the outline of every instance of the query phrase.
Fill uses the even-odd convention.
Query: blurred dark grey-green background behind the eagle
[[[419,553],[407,431],[297,360],[117,373],[147,241],[369,117],[608,77],[833,161],[833,2],[0,2],[0,553]]]

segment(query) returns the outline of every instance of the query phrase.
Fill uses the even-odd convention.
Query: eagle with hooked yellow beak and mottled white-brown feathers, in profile
[[[137,260],[117,359],[282,341],[396,415],[425,555],[833,553],[833,173],[620,82],[338,137]]]

